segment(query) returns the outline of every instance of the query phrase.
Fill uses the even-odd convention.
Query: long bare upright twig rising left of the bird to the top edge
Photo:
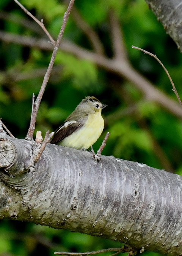
[[[69,6],[67,8],[66,13],[64,13],[63,24],[61,26],[61,30],[60,30],[60,33],[58,35],[58,39],[55,43],[55,47],[54,47],[54,50],[53,50],[53,53],[52,53],[52,57],[50,59],[50,63],[49,63],[49,66],[47,68],[47,72],[45,73],[44,80],[43,80],[41,89],[39,91],[38,97],[37,97],[37,99],[34,103],[34,106],[33,106],[32,118],[31,118],[31,121],[30,121],[30,128],[28,129],[27,137],[25,138],[27,140],[31,140],[33,138],[33,132],[35,130],[35,122],[36,122],[38,109],[39,109],[39,106],[40,106],[40,103],[41,103],[43,93],[45,91],[45,87],[46,87],[47,82],[49,80],[50,73],[52,71],[52,67],[53,67],[53,64],[54,64],[54,61],[55,61],[55,58],[56,58],[56,54],[57,54],[58,48],[60,46],[60,42],[61,42],[61,39],[63,37],[64,29],[66,27],[66,24],[67,24],[67,21],[68,21],[68,18],[69,18],[69,14],[71,12],[73,4],[74,4],[74,0],[71,0],[70,3],[69,3]]]

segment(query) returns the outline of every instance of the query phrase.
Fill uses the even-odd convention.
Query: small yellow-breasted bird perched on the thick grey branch
[[[55,130],[50,143],[60,142],[60,145],[66,147],[88,149],[97,141],[104,129],[101,111],[106,106],[94,96],[85,97],[63,125]]]

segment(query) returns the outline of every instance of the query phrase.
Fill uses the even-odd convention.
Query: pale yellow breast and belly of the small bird
[[[101,111],[89,114],[82,128],[63,139],[60,144],[74,149],[88,149],[97,141],[103,129],[104,119]]]

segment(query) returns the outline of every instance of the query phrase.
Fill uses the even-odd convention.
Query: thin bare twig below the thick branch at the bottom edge
[[[87,251],[86,253],[67,253],[67,252],[57,252],[55,251],[54,254],[60,254],[60,255],[69,255],[69,256],[79,256],[79,255],[93,255],[93,254],[98,254],[98,253],[105,253],[107,251],[117,251],[118,253],[122,253],[125,252],[125,247],[121,247],[121,248],[107,248],[107,249],[102,249],[102,250],[98,250],[98,251]]]

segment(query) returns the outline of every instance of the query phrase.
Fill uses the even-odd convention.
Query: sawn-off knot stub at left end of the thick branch
[[[14,189],[27,186],[25,174],[30,172],[32,145],[28,141],[0,138],[0,178]]]

